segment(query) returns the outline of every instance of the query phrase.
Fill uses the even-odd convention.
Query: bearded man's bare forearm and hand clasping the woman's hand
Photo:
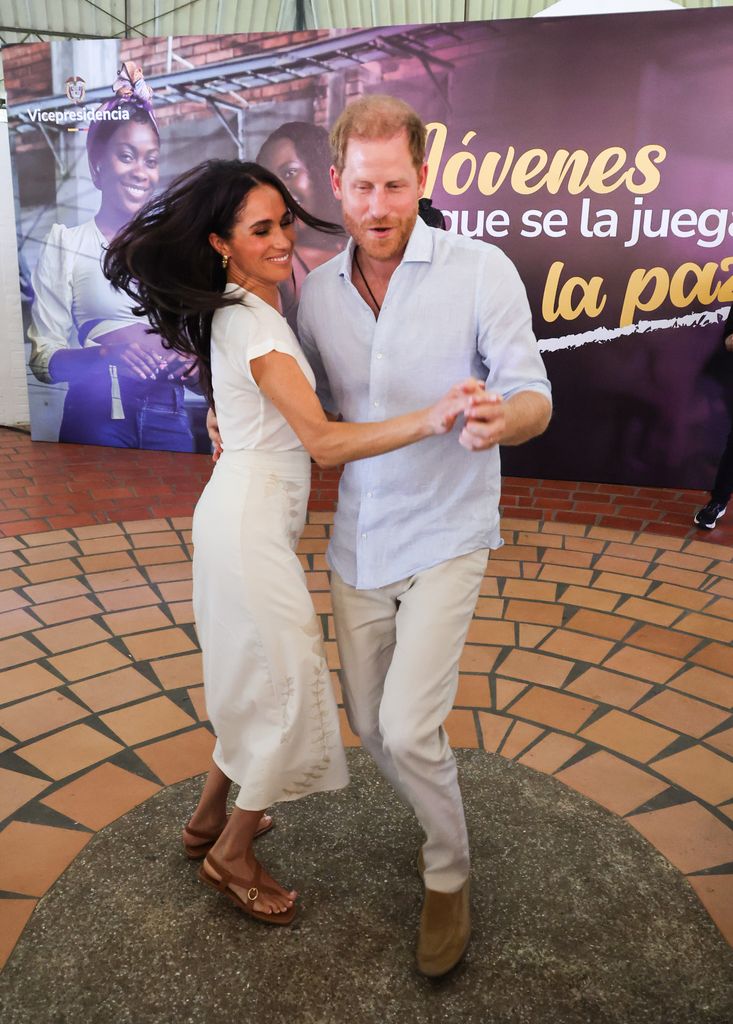
[[[551,415],[550,400],[536,391],[519,391],[507,399],[495,391],[476,391],[459,441],[469,452],[521,444],[543,433]]]

